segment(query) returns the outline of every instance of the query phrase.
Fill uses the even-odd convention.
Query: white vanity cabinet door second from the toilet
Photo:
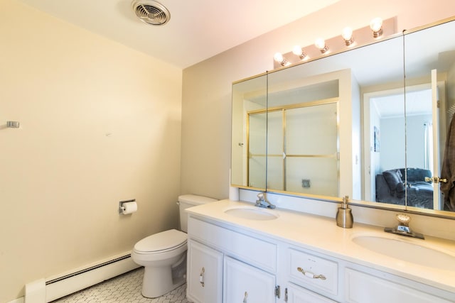
[[[225,257],[223,293],[224,303],[273,303],[275,276]]]

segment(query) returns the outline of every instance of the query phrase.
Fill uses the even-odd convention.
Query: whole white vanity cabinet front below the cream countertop
[[[399,268],[387,272],[360,257],[338,257],[339,243],[333,253],[330,248],[323,253],[319,246],[289,240],[286,232],[277,236],[271,226],[228,222],[188,217],[187,296],[192,302],[455,302],[455,292],[411,280]]]

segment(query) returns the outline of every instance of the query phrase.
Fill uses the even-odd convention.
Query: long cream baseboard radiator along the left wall
[[[45,287],[44,292],[41,292],[42,296],[36,296],[35,294],[27,294],[25,297],[26,303],[45,303],[51,302],[55,299],[68,296],[80,290],[84,290],[87,287],[96,285],[105,280],[109,280],[117,275],[122,275],[125,272],[139,268],[139,265],[133,262],[131,254],[121,255],[111,260],[103,261],[95,265],[90,265],[87,268],[75,270],[70,273],[66,273],[59,277],[52,277],[49,280],[42,282]],[[32,290],[36,290],[37,287],[30,287]],[[27,287],[26,287],[27,289]],[[45,296],[44,296],[45,294]],[[34,299],[34,298],[40,299]],[[45,297],[43,300],[42,298]]]

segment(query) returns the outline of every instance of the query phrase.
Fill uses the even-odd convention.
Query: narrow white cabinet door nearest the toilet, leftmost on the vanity
[[[187,297],[195,303],[221,303],[223,253],[188,241]]]

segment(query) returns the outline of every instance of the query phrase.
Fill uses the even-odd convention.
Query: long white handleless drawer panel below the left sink
[[[188,218],[188,236],[223,250],[226,255],[257,268],[272,273],[277,271],[277,244],[200,221],[191,216]]]

